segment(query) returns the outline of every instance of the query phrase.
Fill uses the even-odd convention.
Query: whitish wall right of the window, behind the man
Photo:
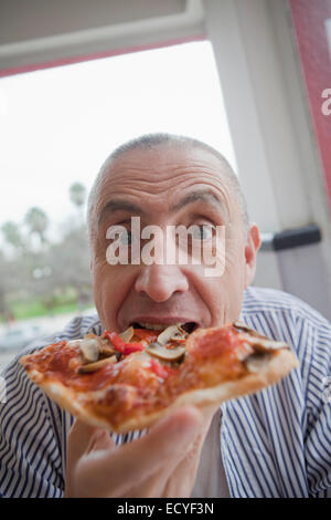
[[[322,241],[261,252],[256,283],[331,319],[331,229],[323,173],[286,0],[205,0],[238,173],[265,232],[317,223]]]

